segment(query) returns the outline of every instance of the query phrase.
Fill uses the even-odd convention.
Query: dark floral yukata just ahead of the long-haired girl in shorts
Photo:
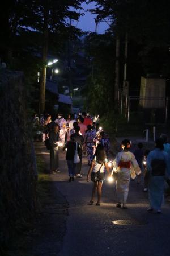
[[[84,141],[86,143],[88,163],[91,164],[94,155],[94,138],[96,136],[95,131],[86,131],[84,134]]]

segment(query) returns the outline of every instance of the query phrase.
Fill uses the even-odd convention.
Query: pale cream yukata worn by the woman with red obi
[[[122,166],[125,166],[128,163],[129,168],[120,167],[120,161],[125,163]],[[127,165],[127,167],[128,167]],[[122,150],[116,155],[114,159],[114,167],[116,168],[118,175],[116,181],[116,191],[117,191],[117,198],[118,202],[126,204],[128,199],[129,193],[129,183],[130,183],[130,175],[131,175],[131,168],[134,169],[136,174],[141,174],[141,169],[135,159],[135,156],[130,151]]]

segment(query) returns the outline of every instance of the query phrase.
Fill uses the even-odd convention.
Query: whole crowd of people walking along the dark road
[[[69,114],[67,120],[62,114],[58,114],[53,122],[48,115],[44,123],[43,139],[49,142],[50,172],[59,172],[58,148],[60,146],[66,151],[69,182],[74,181],[75,177],[82,177],[82,156],[83,152],[87,153],[88,165],[90,165],[87,181],[91,179],[94,183],[90,204],[94,204],[97,192],[96,205],[100,205],[102,185],[107,172],[109,177],[113,175],[116,179],[116,207],[128,209],[126,201],[130,180],[135,179],[137,175],[139,184],[142,170],[145,174],[144,191],[148,191],[150,202],[147,210],[161,212],[164,184],[165,181],[170,183],[170,144],[167,143],[165,134],[156,140],[154,150],[144,152],[142,143],[139,143],[134,154],[130,152],[131,142],[129,139],[124,139],[121,143],[121,151],[114,159],[112,170],[108,166],[109,138],[86,113],[78,115],[76,119],[73,114]]]

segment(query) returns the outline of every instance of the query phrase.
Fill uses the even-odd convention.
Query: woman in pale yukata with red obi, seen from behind
[[[137,175],[141,174],[141,169],[134,154],[129,151],[130,147],[129,139],[124,139],[121,143],[122,151],[114,159],[114,168],[117,170],[116,191],[118,203],[116,207],[121,208],[122,204],[123,209],[128,209],[126,200],[128,199],[130,176],[133,179],[135,178],[135,174],[132,176],[132,171]]]

